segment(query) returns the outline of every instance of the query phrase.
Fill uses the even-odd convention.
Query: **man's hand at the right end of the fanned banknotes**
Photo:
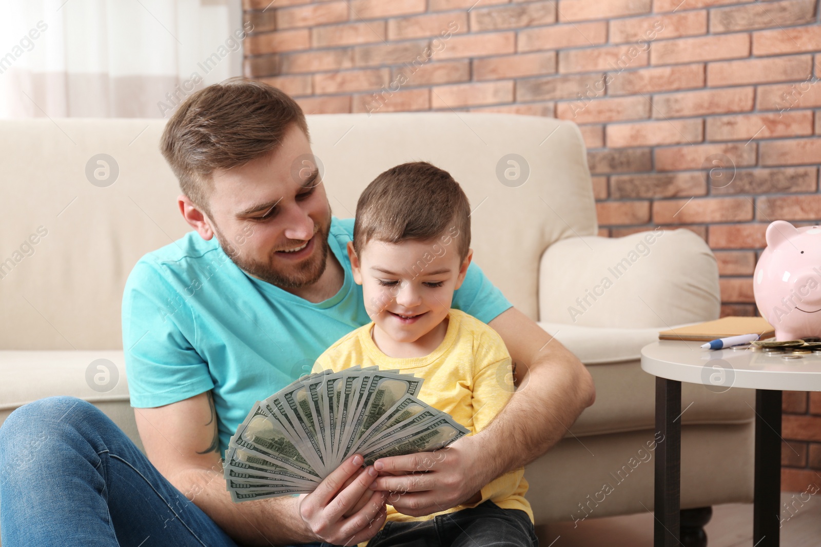
[[[476,473],[481,467],[476,441],[467,436],[436,452],[378,459],[374,468],[380,476],[371,488],[388,490],[388,504],[411,517],[476,503],[479,490],[494,478]]]

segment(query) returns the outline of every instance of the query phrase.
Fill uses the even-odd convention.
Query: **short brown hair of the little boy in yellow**
[[[428,162],[391,167],[356,203],[356,256],[371,239],[401,243],[440,236],[456,239],[460,262],[464,261],[470,248],[470,203],[450,173]],[[447,239],[445,244],[449,243]]]

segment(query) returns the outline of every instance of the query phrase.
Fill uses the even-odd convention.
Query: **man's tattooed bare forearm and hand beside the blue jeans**
[[[158,408],[135,408],[145,453],[154,467],[209,515],[228,536],[245,545],[282,545],[326,540],[355,545],[384,522],[382,492],[370,492],[373,467],[349,458],[316,491],[300,497],[232,502],[222,476],[217,414],[211,392]],[[372,472],[373,474],[369,474]]]

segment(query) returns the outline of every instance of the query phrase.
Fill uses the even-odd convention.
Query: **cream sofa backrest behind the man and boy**
[[[569,121],[466,112],[308,120],[337,217],[353,217],[362,189],[390,166],[424,160],[451,171],[473,208],[475,261],[533,319],[544,250],[598,230],[585,146]],[[0,349],[122,347],[131,268],[190,230],[158,152],[164,123],[0,122]]]

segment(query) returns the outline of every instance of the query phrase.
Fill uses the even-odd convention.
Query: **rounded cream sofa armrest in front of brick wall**
[[[584,236],[548,247],[539,265],[539,321],[667,328],[718,319],[713,252],[690,230]]]

